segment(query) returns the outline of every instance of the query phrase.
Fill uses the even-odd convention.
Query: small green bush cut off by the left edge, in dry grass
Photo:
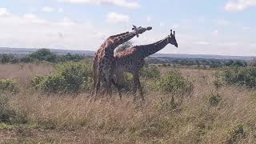
[[[0,79],[0,92],[17,92],[18,87],[16,86],[16,81],[14,79]]]

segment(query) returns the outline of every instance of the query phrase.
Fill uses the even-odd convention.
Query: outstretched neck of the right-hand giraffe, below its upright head
[[[164,38],[158,42],[154,42],[150,45],[138,46],[138,49],[142,52],[142,57],[146,58],[152,54],[157,53],[169,44],[169,37]]]

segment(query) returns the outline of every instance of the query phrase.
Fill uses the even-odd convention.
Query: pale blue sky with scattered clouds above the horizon
[[[97,50],[105,38],[153,26],[136,45],[177,31],[160,53],[256,55],[256,0],[8,0],[0,2],[0,46]]]

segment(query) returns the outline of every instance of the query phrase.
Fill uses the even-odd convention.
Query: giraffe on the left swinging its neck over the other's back
[[[95,99],[101,82],[106,83],[105,93],[110,94],[110,96],[112,94],[111,83],[115,65],[114,49],[131,38],[138,37],[138,34],[143,34],[146,30],[152,30],[152,27],[143,28],[140,26],[137,28],[134,26],[132,30],[134,31],[110,36],[95,53],[93,62],[94,89],[92,92],[92,95],[94,95],[95,91]]]

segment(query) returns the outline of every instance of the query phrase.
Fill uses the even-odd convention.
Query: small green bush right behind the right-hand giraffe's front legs
[[[140,71],[142,78],[159,78],[160,71],[157,66],[144,66]]]

